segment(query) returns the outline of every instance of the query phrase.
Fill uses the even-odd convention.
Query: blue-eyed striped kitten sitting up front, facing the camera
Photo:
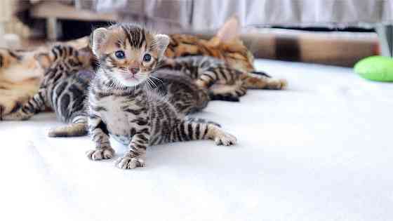
[[[137,25],[112,25],[95,29],[93,53],[99,60],[88,95],[89,133],[95,149],[91,160],[114,156],[109,135],[128,151],[116,161],[123,169],[145,166],[146,148],[165,142],[215,140],[234,145],[236,138],[216,123],[187,119],[146,82],[168,46],[168,36],[153,34]]]

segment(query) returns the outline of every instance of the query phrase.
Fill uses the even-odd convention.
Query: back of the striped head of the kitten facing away
[[[55,45],[48,52],[36,54],[35,58],[43,69],[56,68],[68,71],[91,67],[93,62],[93,54],[88,47],[77,50],[66,44]]]

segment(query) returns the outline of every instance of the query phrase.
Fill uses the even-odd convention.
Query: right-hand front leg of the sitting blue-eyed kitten
[[[116,166],[121,169],[133,169],[145,166],[146,148],[149,145],[150,132],[147,128],[139,130],[131,138],[128,152],[117,159]]]

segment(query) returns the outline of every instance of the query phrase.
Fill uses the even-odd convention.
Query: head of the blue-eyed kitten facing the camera
[[[145,82],[159,65],[169,43],[165,34],[154,34],[138,25],[117,24],[95,29],[91,46],[101,74],[121,86]]]

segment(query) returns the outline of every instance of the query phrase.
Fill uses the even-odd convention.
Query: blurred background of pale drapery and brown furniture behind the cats
[[[76,39],[110,22],[208,39],[236,15],[255,58],[352,67],[371,55],[392,56],[392,9],[382,0],[3,0],[0,46]]]

